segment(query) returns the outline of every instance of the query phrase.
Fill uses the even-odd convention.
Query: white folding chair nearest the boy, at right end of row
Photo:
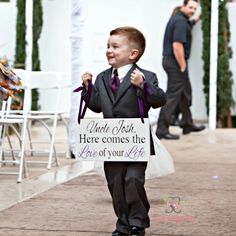
[[[50,169],[52,167],[53,161],[55,162],[56,166],[58,166],[58,157],[57,157],[57,150],[55,147],[55,137],[56,137],[56,128],[58,119],[60,118],[60,102],[61,97],[63,97],[62,91],[63,88],[68,87],[68,82],[64,79],[65,74],[57,73],[57,72],[28,72],[29,73],[29,81],[27,84],[26,90],[29,93],[32,92],[32,89],[37,89],[40,93],[42,98],[47,99],[47,105],[50,109],[41,109],[38,111],[30,110],[28,112],[28,127],[30,127],[31,123],[39,122],[46,128],[49,134],[49,141],[43,140],[42,142],[45,143],[49,142],[49,149],[43,150],[44,153],[48,153],[48,161],[47,161],[47,168]],[[53,98],[49,100],[47,92],[50,91],[50,94]],[[51,105],[51,106],[50,106]],[[48,124],[49,122],[49,124]],[[28,128],[30,131],[30,128]],[[35,142],[39,141],[36,140],[35,142],[31,138],[30,132],[29,133],[29,141],[31,146],[31,154],[37,153],[38,151],[34,148]],[[42,143],[41,142],[41,143]],[[42,150],[40,150],[42,151]],[[54,160],[53,160],[54,157]],[[33,162],[41,162],[42,161],[33,161]]]

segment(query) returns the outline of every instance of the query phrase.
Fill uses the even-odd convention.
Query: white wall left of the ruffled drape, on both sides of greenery
[[[43,0],[43,28],[39,39],[40,62],[42,71],[70,72],[71,44],[71,1]],[[16,40],[16,0],[0,3],[0,57],[7,56],[13,64]],[[70,81],[70,76],[68,76]],[[69,111],[71,92],[63,92],[61,110]],[[53,93],[50,98],[40,93],[39,105],[49,109],[53,105]]]

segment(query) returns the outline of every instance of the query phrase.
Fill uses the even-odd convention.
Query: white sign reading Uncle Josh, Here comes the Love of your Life
[[[148,161],[148,119],[83,119],[78,125],[77,160]]]

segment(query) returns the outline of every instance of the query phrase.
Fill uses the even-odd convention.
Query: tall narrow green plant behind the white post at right
[[[211,32],[211,1],[201,0],[202,31],[204,61],[204,93],[206,96],[207,112],[209,105],[209,78],[210,78],[210,32]],[[229,60],[232,50],[229,47],[230,26],[228,21],[227,1],[219,1],[219,37],[218,37],[218,71],[217,71],[217,121],[221,127],[231,127],[232,118],[230,108],[234,105],[232,95],[232,73],[229,69]]]

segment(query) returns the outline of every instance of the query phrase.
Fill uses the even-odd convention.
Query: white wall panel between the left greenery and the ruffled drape
[[[71,61],[71,1],[43,0],[43,28],[39,39],[40,63],[42,71],[70,72]],[[70,75],[67,77],[70,81]],[[63,90],[60,109],[70,110],[71,91]],[[47,96],[47,97],[46,97]],[[50,109],[54,104],[53,92],[51,98],[41,92],[39,104],[42,109]]]

